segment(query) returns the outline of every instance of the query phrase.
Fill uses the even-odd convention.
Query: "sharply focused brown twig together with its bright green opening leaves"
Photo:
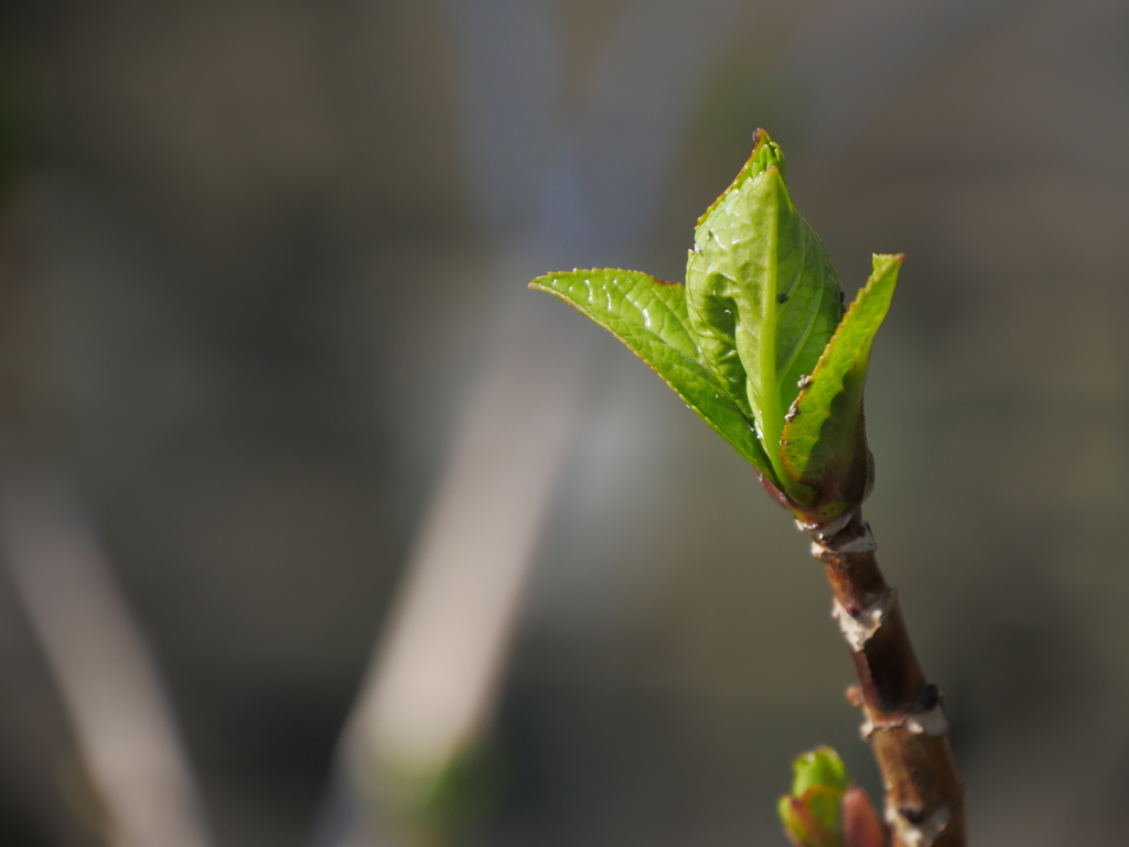
[[[831,259],[788,194],[784,153],[759,130],[749,161],[698,220],[684,284],[603,268],[548,274],[530,285],[574,306],[647,362],[812,536],[858,671],[849,696],[863,709],[863,735],[886,785],[893,844],[959,847],[963,791],[939,691],[925,681],[860,511],[874,483],[863,389],[902,259],[876,254],[870,277],[844,308]],[[848,808],[846,782],[816,794],[821,809],[832,796]],[[809,836],[784,802],[780,811],[789,837],[805,847],[881,844],[841,841],[838,811],[823,809],[826,826]]]

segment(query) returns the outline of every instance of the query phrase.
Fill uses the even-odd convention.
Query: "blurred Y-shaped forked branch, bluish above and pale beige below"
[[[524,282],[558,253],[630,257],[739,0],[628,3],[575,122],[553,6],[447,3],[471,200],[504,252],[526,258],[499,268],[493,351],[342,736],[324,847],[419,840],[404,817],[480,741],[587,360],[585,336]]]

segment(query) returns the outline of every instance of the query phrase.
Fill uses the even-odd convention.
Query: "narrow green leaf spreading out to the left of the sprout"
[[[548,274],[530,288],[554,294],[615,335],[746,461],[773,477],[749,418],[699,361],[684,285],[638,271],[604,268]]]

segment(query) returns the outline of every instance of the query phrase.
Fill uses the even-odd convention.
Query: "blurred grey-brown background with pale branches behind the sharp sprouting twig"
[[[1129,6],[12,2],[0,844],[782,845],[879,786],[806,539],[533,275],[767,127],[904,252],[867,518],[979,844],[1129,794]]]

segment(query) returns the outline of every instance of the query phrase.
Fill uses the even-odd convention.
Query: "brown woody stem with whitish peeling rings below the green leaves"
[[[848,697],[863,711],[861,734],[878,760],[893,847],[964,847],[964,789],[940,691],[926,682],[869,524],[856,509],[798,526],[826,570],[833,616],[855,661],[859,685]]]

